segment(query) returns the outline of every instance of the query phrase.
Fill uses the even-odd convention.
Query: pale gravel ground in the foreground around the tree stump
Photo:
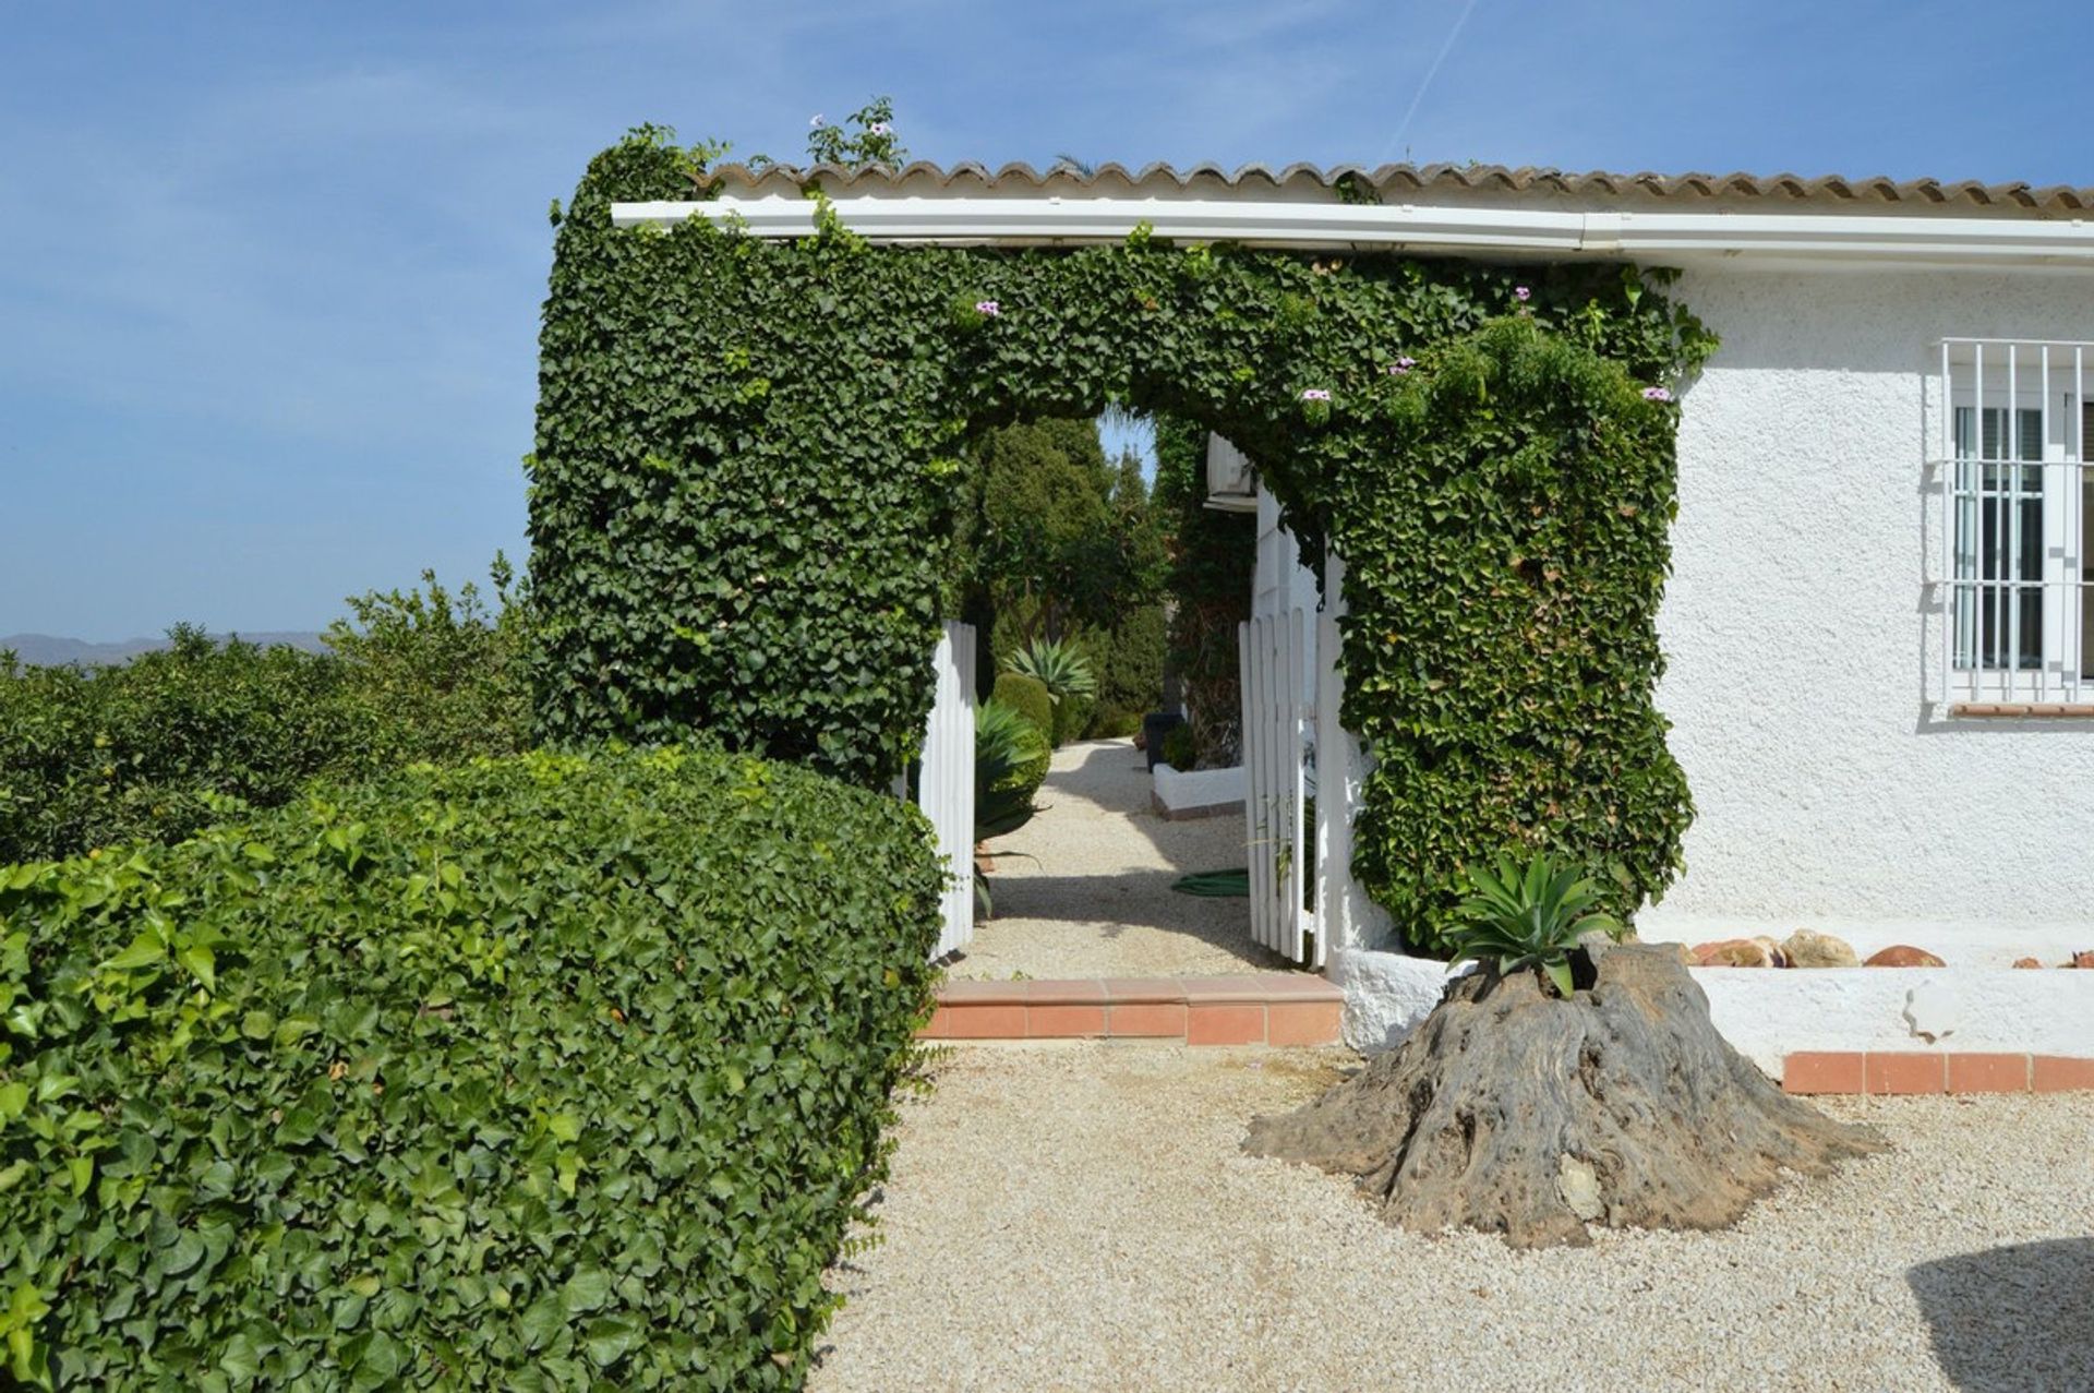
[[[951,1052],[808,1387],[2094,1389],[2094,1096],[1839,1100],[1895,1150],[1730,1232],[1522,1255],[1238,1152],[1351,1062]]]

